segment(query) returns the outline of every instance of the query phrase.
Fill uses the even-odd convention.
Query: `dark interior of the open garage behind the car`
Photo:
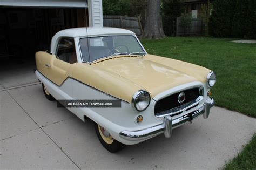
[[[0,7],[0,91],[38,82],[35,53],[60,30],[86,26],[87,8]],[[87,25],[89,25],[87,19]]]

